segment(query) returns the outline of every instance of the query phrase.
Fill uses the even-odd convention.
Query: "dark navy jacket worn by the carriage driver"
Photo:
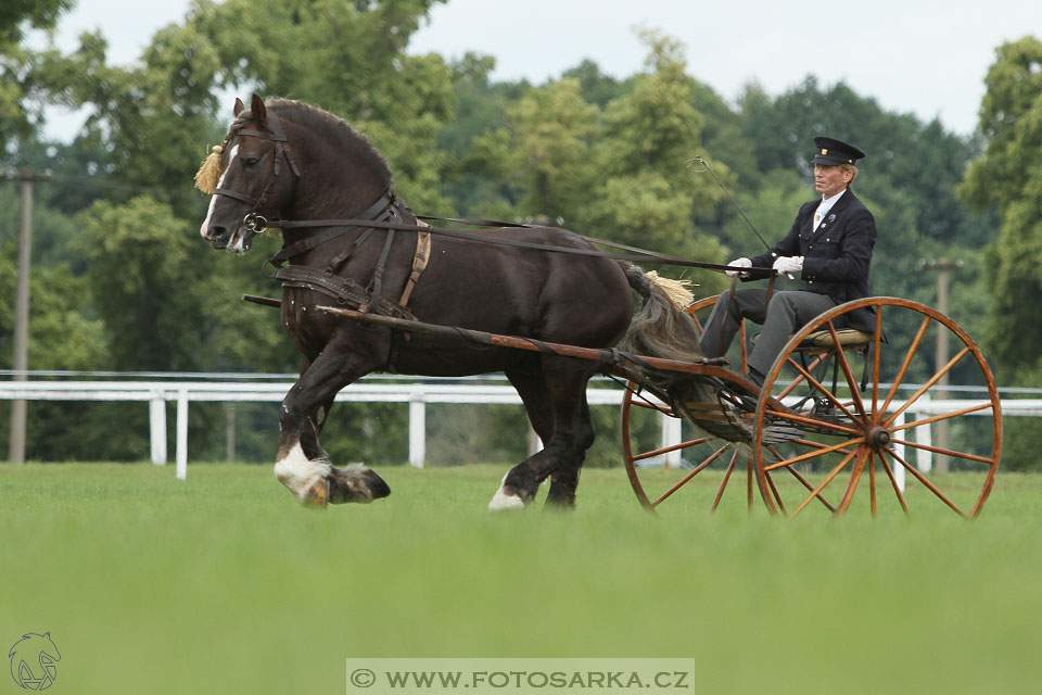
[[[804,290],[826,294],[837,304],[869,296],[868,267],[876,244],[875,218],[854,192],[847,189],[817,231],[812,231],[818,203],[819,198],[803,203],[789,233],[771,252],[750,258],[753,267],[770,268],[776,256],[803,256],[800,279],[804,281]],[[750,274],[750,279],[755,277]],[[848,321],[859,330],[875,330],[874,313],[869,309],[852,312]]]

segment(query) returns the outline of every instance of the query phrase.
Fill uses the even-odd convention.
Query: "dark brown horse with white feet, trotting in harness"
[[[283,249],[274,258],[284,288],[282,323],[304,361],[301,379],[282,402],[276,477],[307,505],[386,496],[390,489],[378,475],[361,466],[335,468],[319,445],[336,393],[373,371],[503,371],[545,448],[504,477],[490,508],[524,506],[548,476],[547,502],[573,505],[580,467],[594,440],[586,382],[603,365],[373,328],[317,307],[340,303],[429,324],[609,348],[631,323],[631,285],[648,298],[645,308],[659,302],[661,309],[660,293],[618,261],[435,236],[421,254],[429,264],[403,308],[417,232],[336,224],[357,218],[416,224],[394,195],[383,156],[340,118],[301,102],[265,104],[254,96],[249,110],[237,100],[234,113],[223,148],[215,148],[219,180],[208,186],[216,190],[200,232],[215,249],[245,252],[267,219],[282,229]],[[481,233],[592,248],[558,228]]]

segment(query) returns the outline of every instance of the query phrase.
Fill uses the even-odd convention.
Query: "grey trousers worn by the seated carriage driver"
[[[816,292],[782,290],[771,295],[771,311],[766,305],[767,291],[760,289],[723,292],[709,316],[699,348],[707,357],[720,357],[727,352],[738,332],[742,318],[763,325],[755,348],[749,355],[749,366],[766,375],[785,343],[812,318],[834,306],[830,298]]]

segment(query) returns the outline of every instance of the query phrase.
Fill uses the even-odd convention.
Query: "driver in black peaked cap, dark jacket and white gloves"
[[[814,138],[814,189],[821,198],[804,203],[792,228],[771,251],[728,265],[750,270],[727,270],[741,280],[799,274],[802,290],[739,289],[720,295],[699,342],[707,357],[727,352],[742,318],[763,325],[749,356],[749,377],[758,386],[771,369],[789,337],[818,314],[837,304],[868,295],[868,266],[876,243],[876,222],[850,189],[857,176],[857,160],[865,153],[833,138]],[[758,271],[759,270],[759,271]],[[872,332],[872,309],[846,315],[847,326]]]

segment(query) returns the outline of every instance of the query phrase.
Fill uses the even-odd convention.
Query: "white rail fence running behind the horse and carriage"
[[[137,401],[148,402],[151,422],[152,463],[167,463],[166,404],[176,403],[176,476],[183,480],[188,476],[188,407],[195,402],[281,402],[285,397],[291,382],[243,382],[243,381],[0,381],[0,400],[9,401]],[[590,405],[622,404],[624,391],[621,388],[589,388],[587,397]],[[408,383],[387,383],[380,380],[361,380],[342,390],[338,402],[355,403],[408,403],[409,404],[409,464],[423,466],[427,450],[427,410],[428,403],[457,404],[520,404],[521,400],[510,386],[487,383],[467,383],[449,380],[420,380]],[[894,401],[892,410],[900,408],[903,402]],[[905,416],[919,419],[938,413],[958,410],[970,405],[963,400],[937,400],[928,396],[919,399]],[[1042,416],[1042,399],[1011,399],[1002,401],[1004,415]],[[914,428],[917,443],[929,444],[930,427]],[[662,446],[681,443],[681,421],[662,417]],[[679,465],[681,452],[666,454],[662,464]],[[920,470],[931,467],[931,454],[917,450],[916,465]]]

